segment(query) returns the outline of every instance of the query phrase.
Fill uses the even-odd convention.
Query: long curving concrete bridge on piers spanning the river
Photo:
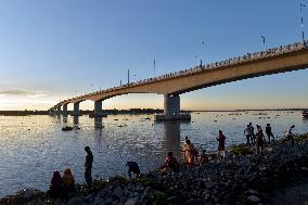
[[[110,98],[128,93],[157,93],[164,94],[164,114],[156,115],[157,120],[190,119],[190,114],[180,112],[180,94],[226,82],[305,69],[308,67],[307,44],[308,40],[295,42],[87,93],[61,101],[49,111],[67,116],[67,104],[73,103],[73,115],[78,116],[79,103],[91,100],[94,102],[94,116],[101,117],[102,102]]]

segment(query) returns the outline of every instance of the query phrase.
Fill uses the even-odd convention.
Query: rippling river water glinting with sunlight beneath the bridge
[[[81,116],[80,130],[62,131],[73,125],[69,117],[0,116],[0,196],[25,187],[47,190],[53,170],[70,167],[76,181],[84,183],[84,148],[89,145],[94,155],[92,175],[107,178],[126,175],[127,161],[139,163],[142,171],[161,165],[168,151],[180,156],[180,145],[188,136],[198,149],[214,151],[217,131],[227,137],[227,145],[244,142],[243,130],[248,121],[265,127],[272,125],[274,136],[294,124],[295,132],[308,132],[308,121],[299,112],[192,113],[192,123],[158,123],[144,119],[153,115],[110,115],[100,123]],[[76,121],[75,121],[76,123]],[[118,127],[118,126],[123,127]]]

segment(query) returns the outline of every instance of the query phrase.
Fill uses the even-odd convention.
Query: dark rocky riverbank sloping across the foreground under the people
[[[308,203],[307,191],[299,196],[297,187],[287,191],[290,184],[308,187],[308,133],[297,136],[295,145],[280,140],[259,155],[249,146],[233,146],[223,161],[213,159],[202,167],[181,165],[178,174],[162,175],[157,169],[132,180],[123,176],[97,179],[91,189],[77,185],[66,201],[26,189],[1,198],[0,204],[287,204],[280,200],[284,192],[291,194],[293,205]]]

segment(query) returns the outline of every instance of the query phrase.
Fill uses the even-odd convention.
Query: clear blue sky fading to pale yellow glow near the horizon
[[[128,69],[136,81],[297,42],[301,16],[307,39],[301,2],[300,12],[300,0],[0,0],[0,110],[48,110],[125,84]],[[304,69],[204,88],[181,94],[181,108],[307,107],[307,79]],[[127,94],[103,108],[163,102]]]

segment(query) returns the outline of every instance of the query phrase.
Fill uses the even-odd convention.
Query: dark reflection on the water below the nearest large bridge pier
[[[174,155],[179,157],[181,152],[180,148],[180,123],[179,121],[165,121],[164,123],[164,137],[162,141],[162,149],[166,153],[174,152]]]

